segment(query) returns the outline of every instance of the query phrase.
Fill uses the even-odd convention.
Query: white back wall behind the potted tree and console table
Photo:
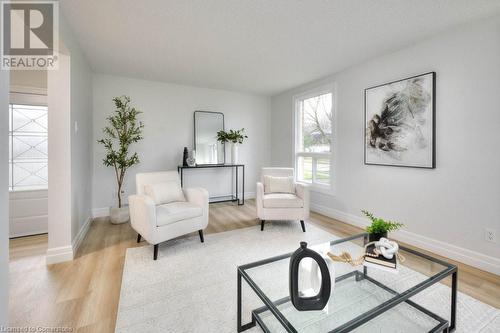
[[[114,96],[130,96],[132,104],[143,112],[140,119],[145,125],[144,140],[132,146],[139,153],[141,163],[126,177],[126,196],[135,193],[135,173],[177,170],[182,163],[183,148],[193,147],[195,110],[223,112],[226,129],[246,129],[249,138],[239,152],[240,162],[246,165],[246,192],[255,191],[260,168],[270,162],[268,97],[100,74],[94,75],[93,89],[94,208],[116,204],[114,171],[102,165],[104,150],[96,143],[102,137],[105,118],[114,110]],[[226,147],[228,161],[229,150]],[[206,187],[212,196],[230,192],[229,170],[189,172],[185,177],[185,186]]]

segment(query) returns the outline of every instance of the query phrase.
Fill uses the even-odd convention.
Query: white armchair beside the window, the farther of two
[[[309,218],[309,188],[294,182],[294,193],[272,193],[264,186],[265,176],[291,177],[293,168],[262,168],[261,182],[257,183],[257,216],[264,230],[266,220],[300,220],[302,231],[306,231],[304,220]]]

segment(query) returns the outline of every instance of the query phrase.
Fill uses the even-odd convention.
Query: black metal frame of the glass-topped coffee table
[[[364,244],[367,243],[368,241],[368,234],[367,233],[361,233],[357,234],[351,237],[347,238],[342,238],[338,240],[334,240],[330,242],[330,246],[344,243],[344,242],[349,242],[355,239],[362,238]],[[375,286],[382,288],[389,293],[393,294],[394,297],[391,299],[383,302],[382,304],[374,307],[373,309],[368,310],[367,312],[353,318],[352,320],[344,323],[343,325],[331,330],[330,332],[349,332],[352,331],[353,329],[367,323],[368,321],[372,320],[373,318],[376,318],[380,314],[394,308],[400,303],[405,302],[406,304],[414,307],[418,311],[423,312],[424,314],[428,315],[429,317],[435,319],[438,324],[432,328],[429,332],[452,332],[455,330],[455,324],[456,324],[456,309],[457,309],[457,266],[449,264],[443,260],[439,260],[437,258],[434,258],[432,256],[429,256],[427,254],[415,251],[413,249],[406,248],[404,246],[399,247],[401,250],[411,253],[413,255],[416,255],[418,257],[427,259],[431,262],[440,264],[445,267],[444,270],[440,271],[439,273],[429,277],[423,282],[420,282],[419,284],[409,288],[408,290],[398,293],[395,290],[391,289],[390,287],[384,285],[383,283],[373,279],[368,275],[368,269],[366,266],[363,267],[363,272],[360,272],[358,270],[349,272],[347,274],[338,276],[335,278],[335,282],[342,281],[344,279],[347,279],[349,277],[354,276],[356,281],[360,280],[367,280],[373,283]],[[264,332],[270,332],[269,328],[265,325],[264,321],[260,317],[260,315],[263,312],[270,311],[274,317],[281,323],[281,325],[285,328],[287,332],[291,333],[296,333],[297,330],[293,327],[293,325],[287,320],[287,318],[280,312],[278,309],[278,306],[281,304],[284,304],[286,302],[290,302],[290,297],[284,297],[282,299],[272,301],[269,299],[266,294],[262,291],[262,289],[252,280],[252,278],[248,275],[246,270],[255,268],[258,266],[263,266],[275,261],[283,260],[286,258],[291,257],[292,253],[287,253],[275,257],[271,257],[268,259],[256,261],[250,264],[238,266],[237,271],[238,271],[238,308],[237,308],[237,331],[238,332],[243,332],[245,330],[248,330],[252,327],[254,327],[256,324],[259,324],[259,326],[262,328]],[[448,322],[446,319],[436,315],[435,313],[425,309],[424,307],[416,304],[415,302],[410,300],[410,297],[415,296],[419,292],[429,288],[433,284],[443,280],[444,278],[448,277],[451,275],[451,316],[450,316],[450,322]],[[249,323],[242,324],[242,299],[241,299],[241,287],[242,287],[242,278],[246,281],[246,283],[250,286],[250,288],[255,292],[255,294],[260,298],[260,300],[264,303],[264,306],[255,309],[252,311],[252,320]]]

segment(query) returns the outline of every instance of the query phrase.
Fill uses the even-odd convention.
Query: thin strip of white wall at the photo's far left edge
[[[9,314],[9,72],[0,70],[0,326]]]

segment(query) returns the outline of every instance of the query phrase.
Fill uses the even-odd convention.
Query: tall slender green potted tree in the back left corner
[[[111,223],[125,223],[129,220],[128,207],[123,207],[123,181],[129,168],[139,163],[136,152],[130,153],[129,148],[133,143],[142,140],[144,125],[137,120],[141,111],[130,105],[130,97],[114,97],[114,113],[107,117],[108,126],[103,129],[104,138],[97,142],[104,146],[106,157],[103,164],[112,167],[115,171],[117,183],[118,207],[110,208]]]

